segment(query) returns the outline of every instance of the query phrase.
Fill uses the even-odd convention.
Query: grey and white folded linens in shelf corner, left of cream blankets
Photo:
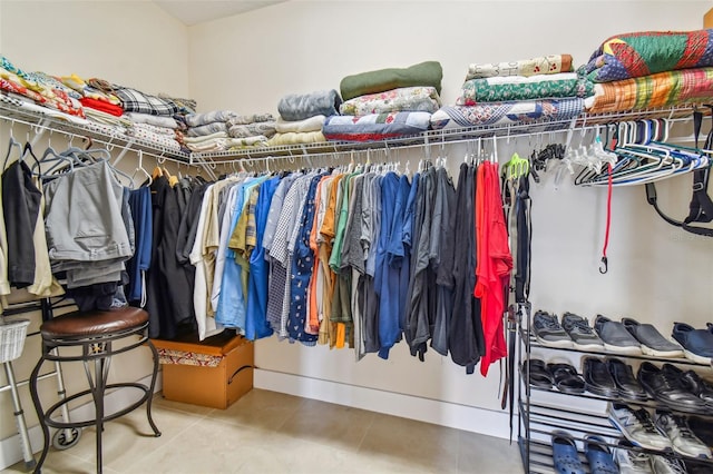
[[[261,134],[253,134],[251,130],[256,131],[260,127],[264,127],[265,131],[270,131],[268,125],[256,125],[270,121],[268,117],[268,115],[241,117],[231,110],[188,113],[185,116],[185,122],[188,128],[185,137],[183,137],[183,142],[186,148],[195,152],[227,151],[248,147],[264,147],[267,144],[267,137]],[[255,122],[255,119],[261,119],[262,121]],[[247,125],[251,127],[247,127]],[[233,131],[231,132],[231,130]],[[240,136],[242,132],[247,134],[247,136]],[[234,137],[233,135],[236,136]]]

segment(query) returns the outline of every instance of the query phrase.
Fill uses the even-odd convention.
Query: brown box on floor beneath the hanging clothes
[[[227,408],[253,388],[253,343],[242,336],[218,335],[203,342],[153,339],[157,349],[166,349],[176,356],[183,352],[186,358],[222,357],[215,367],[165,364],[164,397],[193,405]]]

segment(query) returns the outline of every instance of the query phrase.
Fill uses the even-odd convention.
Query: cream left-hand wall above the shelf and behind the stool
[[[147,92],[186,97],[189,92],[187,45],[186,27],[153,2],[0,1],[0,52],[30,71],[98,77]],[[23,139],[25,130],[16,126],[16,138]],[[7,124],[0,121],[1,144],[7,144]],[[53,134],[52,146],[61,149],[61,140],[59,134]],[[37,149],[43,150],[43,145],[46,141]],[[123,162],[125,169],[133,170],[134,160],[134,156],[127,156]],[[30,319],[30,330],[36,330],[40,315],[32,314]],[[39,354],[39,336],[28,338],[22,357],[14,362],[18,379],[29,377]],[[111,377],[137,381],[150,373],[148,349],[120,357],[124,358],[117,358],[111,365]],[[86,385],[81,364],[69,364],[65,375],[70,391]],[[4,383],[2,372],[0,385]],[[56,399],[55,379],[41,382],[40,387],[43,399]],[[27,387],[21,388],[20,394],[28,424],[36,425]],[[0,393],[0,440],[16,433],[10,394]],[[8,465],[3,464],[3,455],[8,458],[13,454],[0,448],[0,468]]]

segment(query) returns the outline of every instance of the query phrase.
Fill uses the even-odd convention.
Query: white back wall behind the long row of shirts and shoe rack
[[[438,60],[443,67],[442,99],[453,103],[471,62],[568,52],[579,66],[612,34],[699,29],[707,8],[700,1],[291,1],[191,27],[191,90],[203,110],[276,113],[286,93],[339,89],[351,73]],[[515,150],[525,156],[530,151],[528,140],[505,148],[501,160]],[[451,159],[456,172],[462,152],[453,147],[447,152],[457,157]],[[407,156],[414,162],[419,154],[402,154],[400,159]],[[662,206],[682,216],[687,189],[688,178],[662,184]],[[611,269],[603,276],[604,190],[566,185],[555,191],[547,177],[535,186],[535,307],[590,318],[596,313],[633,316],[656,323],[664,334],[674,319],[703,324],[711,308],[713,240],[667,227],[645,205],[643,192],[638,187],[614,192]],[[681,197],[677,205],[671,198],[675,195]],[[482,379],[465,375],[432,350],[426,363],[408,355],[404,345],[391,354],[388,362],[370,355],[354,363],[348,350],[271,338],[256,344],[262,369],[256,381],[374,409],[379,402],[364,403],[360,397],[367,395],[354,386],[407,394],[414,398],[403,397],[399,414],[446,424],[451,424],[446,415],[418,413],[418,401],[446,402],[437,405],[445,411],[462,405],[499,411],[497,365]],[[479,419],[461,419],[459,426],[498,432]]]

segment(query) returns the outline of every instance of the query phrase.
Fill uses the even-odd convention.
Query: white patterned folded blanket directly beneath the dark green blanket
[[[346,100],[339,108],[345,116],[368,116],[399,111],[433,113],[441,106],[434,87],[401,87],[384,92],[368,93]]]

